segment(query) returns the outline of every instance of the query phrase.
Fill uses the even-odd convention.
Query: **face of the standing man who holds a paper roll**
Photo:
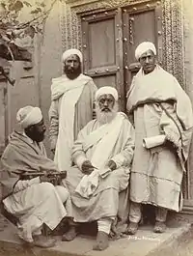
[[[139,62],[146,74],[152,72],[155,68],[155,55],[152,50],[148,50],[143,53]]]

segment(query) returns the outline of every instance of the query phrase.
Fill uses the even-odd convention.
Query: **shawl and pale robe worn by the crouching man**
[[[43,145],[32,141],[25,134],[13,132],[10,143],[1,158],[11,178],[2,181],[6,187],[5,209],[18,219],[19,236],[33,242],[33,235],[41,234],[42,223],[53,230],[66,216],[63,205],[69,192],[63,186],[40,183],[40,178],[21,181],[22,172],[55,170],[57,166],[46,157]],[[10,195],[8,195],[10,194]]]

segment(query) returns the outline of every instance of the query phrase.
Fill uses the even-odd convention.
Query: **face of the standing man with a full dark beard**
[[[76,54],[72,54],[64,63],[64,72],[69,79],[76,78],[81,73],[80,58]]]

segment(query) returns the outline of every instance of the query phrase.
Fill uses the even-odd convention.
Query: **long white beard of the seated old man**
[[[96,120],[100,125],[105,125],[110,123],[118,113],[118,103],[115,102],[113,109],[109,111],[102,111],[98,104],[96,104]]]

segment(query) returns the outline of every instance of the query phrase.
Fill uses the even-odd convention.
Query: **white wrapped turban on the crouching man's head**
[[[41,109],[27,105],[20,108],[16,114],[16,121],[21,128],[28,128],[30,126],[40,123],[42,120]]]

